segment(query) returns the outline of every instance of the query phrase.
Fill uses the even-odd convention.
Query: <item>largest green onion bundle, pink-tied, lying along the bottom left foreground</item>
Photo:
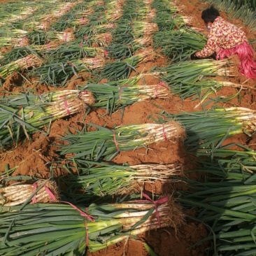
[[[171,197],[91,204],[82,209],[66,204],[29,204],[22,210],[17,206],[1,208],[0,254],[84,255],[151,229],[177,229],[183,223],[180,206]]]

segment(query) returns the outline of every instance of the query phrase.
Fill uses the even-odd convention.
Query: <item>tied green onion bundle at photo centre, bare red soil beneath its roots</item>
[[[121,125],[115,129],[107,129],[90,124],[88,129],[94,131],[80,131],[78,134],[67,134],[62,137],[65,145],[59,145],[62,155],[73,153],[75,157],[98,161],[110,161],[118,152],[147,147],[150,143],[161,141],[183,140],[185,131],[178,122],[166,122],[164,125],[145,123],[141,125]]]

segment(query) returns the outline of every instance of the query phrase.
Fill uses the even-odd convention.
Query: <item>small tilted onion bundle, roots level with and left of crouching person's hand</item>
[[[129,58],[109,62],[101,69],[101,76],[109,80],[129,78],[131,71],[136,71],[135,68],[138,64],[152,61],[154,58],[154,50],[152,48],[145,49]]]

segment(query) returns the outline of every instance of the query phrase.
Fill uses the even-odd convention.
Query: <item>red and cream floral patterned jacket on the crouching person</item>
[[[246,34],[241,29],[220,16],[213,22],[207,38],[204,49],[195,53],[199,58],[209,57],[220,48],[234,48],[247,41]]]

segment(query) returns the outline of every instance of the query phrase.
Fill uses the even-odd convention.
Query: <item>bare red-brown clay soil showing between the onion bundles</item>
[[[7,1],[0,1],[0,3]],[[197,0],[180,0],[177,3],[180,6],[180,13],[187,15],[192,18],[192,27],[202,29],[204,34],[207,33],[204,27],[204,22],[201,20],[201,10],[207,5]],[[227,17],[227,13],[221,13],[222,16]],[[250,29],[243,26],[239,20],[230,20],[234,24],[241,27],[249,38],[255,37],[254,34],[249,34]],[[153,66],[164,66],[166,64],[165,57],[157,57],[154,62],[148,62],[138,67],[138,71],[150,71]],[[3,92],[22,92],[20,87],[19,77],[16,75],[11,76],[0,88],[0,93]],[[86,79],[86,78],[85,78]],[[154,76],[148,76],[145,78],[146,83],[156,84],[159,80]],[[255,80],[247,80],[244,76],[237,76],[234,79],[230,79],[236,83],[244,83],[247,86],[247,90],[240,92],[240,97],[235,97],[225,106],[243,106],[246,108],[255,109],[255,90],[250,87],[255,85]],[[86,80],[76,80],[75,82],[69,83],[65,89],[76,89],[76,85],[86,83]],[[25,85],[31,87],[31,84]],[[23,85],[24,87],[24,85]],[[37,92],[47,92],[54,90],[53,87],[38,85],[36,88]],[[225,87],[224,89],[213,94],[210,97],[229,97],[234,93],[237,93],[238,89]],[[127,124],[140,124],[145,122],[153,122],[152,119],[148,119],[150,115],[154,116],[160,113],[162,109],[168,113],[180,113],[180,111],[200,111],[201,106],[194,108],[199,104],[199,101],[192,101],[191,99],[185,99],[182,101],[180,98],[170,94],[168,99],[155,99],[141,101],[132,106],[125,108],[125,113],[122,118],[122,111],[118,111],[113,115],[105,115],[106,111],[103,109],[93,109],[89,115],[87,115],[85,121],[83,120],[83,113],[72,115],[69,118],[57,120],[52,123],[50,128],[49,136],[45,137],[42,134],[34,134],[32,141],[24,141],[17,146],[17,148],[1,153],[0,173],[4,171],[4,166],[8,165],[8,168],[12,169],[17,167],[14,176],[17,175],[29,175],[36,176],[37,178],[49,178],[50,171],[47,165],[48,162],[52,162],[57,159],[58,155],[55,152],[56,148],[52,146],[53,143],[58,142],[59,136],[66,133],[67,129],[80,129],[85,122],[92,122],[97,125],[106,125],[107,127],[114,127],[116,125],[127,125]],[[229,138],[229,143],[234,141],[243,144],[248,144],[250,148],[256,148],[255,138],[250,143],[247,141],[246,135],[239,135]],[[121,152],[113,162],[118,164],[128,163],[141,164],[141,163],[181,163],[184,164],[185,170],[192,168],[193,163],[187,156],[185,149],[183,148],[182,142],[173,143],[171,141],[164,141],[157,145],[150,145],[149,150],[139,149],[129,152]],[[54,173],[55,178],[64,174],[64,170],[57,169]],[[143,187],[148,192],[154,194],[172,194],[177,188],[186,189],[184,183],[150,183]],[[173,205],[173,209],[177,207]],[[193,247],[194,243],[197,243],[200,239],[206,237],[206,229],[204,225],[198,222],[194,222],[189,219],[183,221],[178,214],[178,211],[173,211],[173,215],[170,215],[173,220],[173,226],[169,228],[157,229],[154,231],[147,232],[138,237],[136,240],[130,239],[123,243],[118,243],[115,246],[111,246],[106,250],[101,250],[96,253],[88,253],[87,255],[105,255],[105,256],[146,256],[148,255],[145,250],[143,243],[146,242],[150,245],[155,253],[159,256],[196,256],[204,255],[204,246],[199,245]]]

